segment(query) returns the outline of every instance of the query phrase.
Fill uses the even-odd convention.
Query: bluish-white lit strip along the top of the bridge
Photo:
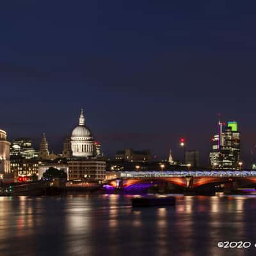
[[[157,178],[157,177],[256,177],[256,171],[167,171],[167,172],[121,172],[121,178]]]

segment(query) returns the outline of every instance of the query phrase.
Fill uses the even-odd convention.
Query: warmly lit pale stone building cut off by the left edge
[[[10,173],[10,145],[7,134],[0,130],[0,174]]]

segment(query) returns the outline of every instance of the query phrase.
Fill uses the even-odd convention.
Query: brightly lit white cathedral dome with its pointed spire
[[[72,156],[74,157],[95,156],[95,145],[92,132],[85,125],[83,109],[81,110],[79,125],[72,131],[71,149]]]

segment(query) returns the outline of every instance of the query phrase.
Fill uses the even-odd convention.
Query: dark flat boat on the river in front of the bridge
[[[140,196],[132,198],[132,207],[175,205],[174,196]]]

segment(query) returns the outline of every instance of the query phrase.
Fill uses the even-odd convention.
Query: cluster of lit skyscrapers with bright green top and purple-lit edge
[[[240,151],[237,122],[228,122],[227,125],[219,122],[218,134],[212,138],[212,150],[209,155],[212,168],[238,169]]]

